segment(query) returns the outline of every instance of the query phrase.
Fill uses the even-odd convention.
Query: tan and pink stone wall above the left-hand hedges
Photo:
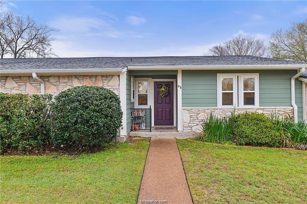
[[[119,75],[38,76],[45,81],[45,93],[57,95],[68,88],[87,85],[105,87],[119,95]],[[4,93],[41,93],[41,83],[32,76],[1,76],[0,91]]]

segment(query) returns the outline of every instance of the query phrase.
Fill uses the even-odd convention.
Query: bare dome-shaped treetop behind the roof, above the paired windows
[[[259,40],[254,37],[239,35],[231,40],[222,42],[209,49],[208,54],[212,56],[239,56],[252,55],[264,56],[267,55],[268,48],[264,40]]]

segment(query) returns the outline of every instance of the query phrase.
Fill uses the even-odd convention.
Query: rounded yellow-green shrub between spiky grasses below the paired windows
[[[285,133],[262,113],[243,113],[235,117],[235,142],[243,145],[280,147]]]

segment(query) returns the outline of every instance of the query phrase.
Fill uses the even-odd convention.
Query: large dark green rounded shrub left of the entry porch
[[[62,91],[52,108],[52,137],[57,146],[91,147],[110,142],[122,124],[119,97],[103,87]]]

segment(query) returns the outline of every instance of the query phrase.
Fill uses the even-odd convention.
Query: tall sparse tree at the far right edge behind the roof
[[[274,58],[307,62],[307,18],[303,22],[291,23],[285,32],[277,30],[269,44]]]

